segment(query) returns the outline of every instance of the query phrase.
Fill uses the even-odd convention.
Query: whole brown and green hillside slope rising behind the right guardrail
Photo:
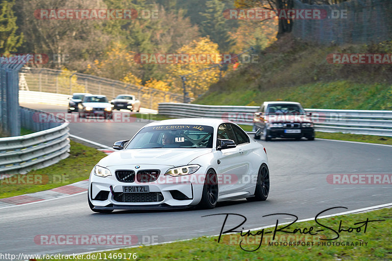
[[[305,108],[392,110],[392,65],[329,64],[332,53],[392,53],[392,41],[373,45],[320,46],[287,35],[242,64],[194,103],[260,105],[297,101]]]

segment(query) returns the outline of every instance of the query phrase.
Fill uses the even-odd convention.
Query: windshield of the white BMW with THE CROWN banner
[[[143,128],[126,149],[212,148],[214,128],[205,125],[159,125]]]

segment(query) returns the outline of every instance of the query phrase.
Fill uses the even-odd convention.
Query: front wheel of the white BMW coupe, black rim
[[[204,180],[203,192],[201,200],[197,207],[199,209],[213,209],[218,202],[218,177],[211,168],[207,171]]]

